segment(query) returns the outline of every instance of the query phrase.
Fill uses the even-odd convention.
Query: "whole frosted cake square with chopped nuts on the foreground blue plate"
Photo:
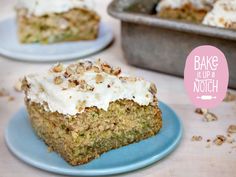
[[[57,64],[23,85],[36,134],[71,165],[154,136],[162,127],[156,87],[100,60]]]

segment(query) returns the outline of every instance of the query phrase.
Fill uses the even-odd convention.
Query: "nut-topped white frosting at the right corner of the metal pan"
[[[218,0],[213,9],[205,16],[203,24],[236,28],[236,0]]]

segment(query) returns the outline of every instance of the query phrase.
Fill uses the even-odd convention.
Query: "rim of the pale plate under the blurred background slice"
[[[4,23],[6,21],[14,21],[15,17],[8,17],[5,18],[3,20],[0,20],[0,26],[1,23]],[[69,54],[61,54],[61,55],[57,55],[57,54],[53,54],[53,55],[32,55],[32,54],[25,54],[22,52],[12,52],[9,51],[5,48],[2,48],[0,46],[0,55],[16,60],[16,61],[27,61],[27,62],[56,62],[56,61],[69,61],[69,60],[73,60],[73,59],[79,59],[79,58],[83,58],[86,56],[90,56],[93,55],[103,49],[105,49],[107,46],[109,46],[109,44],[111,44],[114,41],[114,32],[112,30],[112,28],[107,25],[107,23],[105,21],[101,21],[99,25],[104,26],[109,33],[106,34],[105,36],[105,40],[104,43],[102,43],[101,45],[96,45],[93,46],[92,48],[90,48],[89,50],[86,50],[86,52],[84,51],[80,51],[80,52],[73,52],[73,53],[69,53]],[[93,41],[93,40],[92,40]],[[79,41],[77,41],[79,42]],[[63,42],[65,43],[65,42]],[[33,44],[29,44],[29,45],[33,45]]]

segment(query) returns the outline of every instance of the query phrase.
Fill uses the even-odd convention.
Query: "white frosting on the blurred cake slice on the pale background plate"
[[[93,0],[18,0],[17,8],[26,8],[29,14],[42,16],[67,12],[73,8],[94,9]]]

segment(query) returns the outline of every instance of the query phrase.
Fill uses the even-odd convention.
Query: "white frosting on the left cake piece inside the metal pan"
[[[208,10],[216,0],[161,0],[156,7],[156,11],[159,12],[166,8],[181,8],[186,4],[192,4],[196,9]]]

